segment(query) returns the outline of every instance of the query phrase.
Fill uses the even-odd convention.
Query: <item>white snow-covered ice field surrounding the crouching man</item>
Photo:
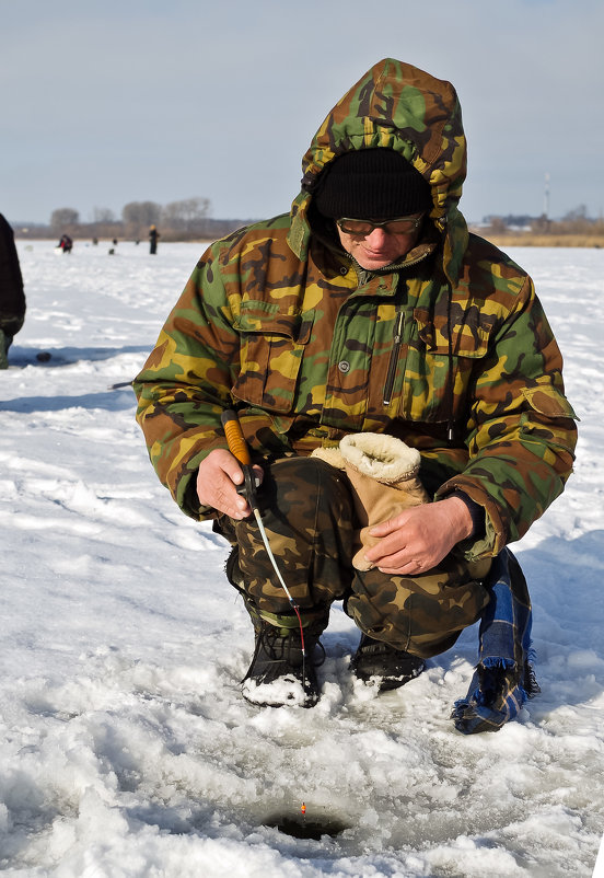
[[[130,388],[109,389],[142,366],[205,246],[18,244],[27,316],[0,372],[0,870],[591,876],[604,830],[604,251],[511,251],[562,348],[580,442],[566,493],[513,546],[543,694],[498,733],[464,737],[449,714],[477,626],[376,697],[350,680],[358,632],[337,605],[318,705],[242,701],[253,636],[226,545],[178,511]],[[326,834],[292,834],[302,802],[306,829]]]

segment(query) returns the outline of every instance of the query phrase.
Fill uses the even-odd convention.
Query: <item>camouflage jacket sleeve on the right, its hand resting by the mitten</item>
[[[486,535],[469,559],[520,540],[564,490],[572,472],[576,415],[561,377],[562,358],[531,278],[493,333],[475,377],[464,471],[439,498],[464,492],[486,510]]]

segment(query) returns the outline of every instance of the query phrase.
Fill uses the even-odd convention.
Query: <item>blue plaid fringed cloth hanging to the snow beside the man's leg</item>
[[[486,586],[491,599],[480,620],[478,665],[467,695],[451,714],[465,735],[498,731],[539,692],[532,668],[531,599],[508,548],[495,558]]]

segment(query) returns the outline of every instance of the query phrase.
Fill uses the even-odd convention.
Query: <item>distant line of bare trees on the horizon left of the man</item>
[[[211,219],[208,198],[186,198],[159,205],[155,201],[130,201],[117,218],[108,208],[95,207],[92,219],[82,221],[78,210],[61,207],[54,210],[48,224],[13,223],[18,238],[117,239],[140,241],[155,226],[162,241],[196,241],[222,238],[252,220]]]

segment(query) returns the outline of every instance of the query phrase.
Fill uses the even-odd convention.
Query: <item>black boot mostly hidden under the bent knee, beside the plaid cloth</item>
[[[359,680],[376,685],[380,692],[398,689],[409,680],[419,677],[426,662],[403,649],[374,640],[368,634],[361,635],[357,651],[350,661],[350,670]]]

